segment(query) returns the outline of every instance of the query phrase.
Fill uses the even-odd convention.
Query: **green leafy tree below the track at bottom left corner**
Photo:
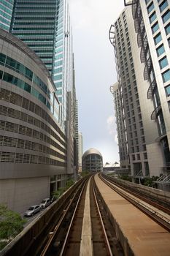
[[[25,223],[26,219],[22,219],[20,214],[0,204],[0,249],[23,230]]]

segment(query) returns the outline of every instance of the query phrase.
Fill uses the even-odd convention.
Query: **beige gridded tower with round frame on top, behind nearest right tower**
[[[131,7],[126,7],[115,21],[114,26],[111,26],[110,39],[115,48],[117,62],[119,89],[119,100],[117,100],[120,107],[115,105],[115,108],[120,110],[121,118],[120,124],[118,124],[120,129],[118,129],[118,140],[121,141],[119,148],[120,154],[122,154],[120,159],[123,158],[126,162],[126,165],[121,167],[128,167],[131,169],[131,176],[139,178],[147,176],[149,170],[140,106],[142,99],[139,99],[141,81],[136,75],[136,65],[134,64],[135,58],[139,56],[140,52],[136,42]],[[117,122],[119,122],[118,118]],[[120,164],[122,165],[121,161]]]

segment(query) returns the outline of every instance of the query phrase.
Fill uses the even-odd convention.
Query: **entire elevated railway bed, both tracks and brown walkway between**
[[[127,187],[123,190],[111,181],[101,179],[96,175],[95,178],[89,176],[86,181],[78,181],[75,187],[69,189],[69,195],[63,194],[60,200],[53,203],[45,216],[42,215],[33,227],[28,228],[22,240],[18,238],[17,243],[10,245],[3,255],[124,256],[133,255],[134,247],[138,253],[141,252],[139,241],[146,243],[146,246],[150,242],[153,252],[157,244],[158,250],[162,251],[163,244],[168,252],[165,255],[169,255],[166,243],[169,240],[169,214],[150,206],[141,197],[135,197],[127,191]],[[150,233],[154,237],[153,241],[157,241],[156,244],[152,239],[150,241]],[[145,252],[148,249],[150,246]]]

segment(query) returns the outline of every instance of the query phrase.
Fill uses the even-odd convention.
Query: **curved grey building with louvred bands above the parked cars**
[[[67,138],[45,64],[0,29],[0,203],[23,212],[61,187]]]

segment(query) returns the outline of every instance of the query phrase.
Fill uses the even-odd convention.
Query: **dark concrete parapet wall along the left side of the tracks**
[[[1,256],[11,255],[36,255],[35,248],[39,249],[42,241],[48,236],[50,229],[58,222],[61,217],[66,202],[72,198],[75,189],[82,181],[77,181],[68,191],[53,202],[46,211],[43,211],[30,225],[28,225],[11,243],[9,243],[2,251]]]

